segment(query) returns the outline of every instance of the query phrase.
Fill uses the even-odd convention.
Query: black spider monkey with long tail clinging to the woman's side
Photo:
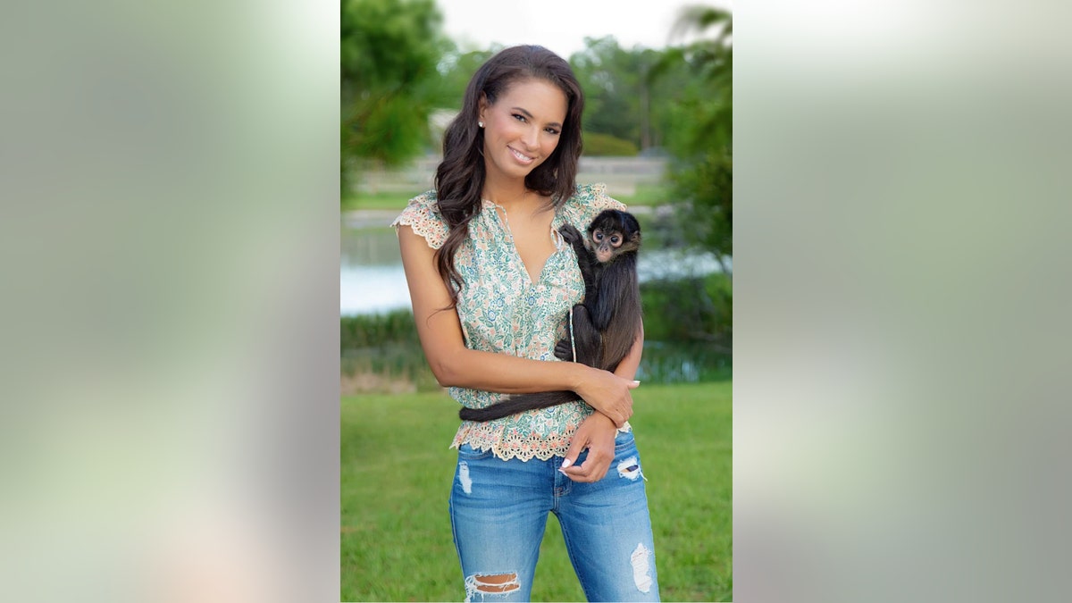
[[[567,330],[555,344],[554,355],[574,361],[576,348],[576,362],[613,371],[629,353],[641,328],[637,280],[640,223],[629,212],[607,209],[592,220],[587,236],[572,224],[563,225],[559,232],[577,253],[584,277],[584,303],[571,310],[574,339]],[[518,394],[482,409],[463,408],[458,414],[464,421],[485,422],[577,399],[577,394],[568,391]]]

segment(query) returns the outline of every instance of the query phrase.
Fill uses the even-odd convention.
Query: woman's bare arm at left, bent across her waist
[[[458,312],[452,309],[440,311],[450,305],[450,294],[435,269],[435,250],[410,226],[399,227],[399,245],[417,335],[441,385],[502,394],[569,389],[616,425],[623,425],[632,415],[629,389],[636,387],[636,382],[631,374],[625,378],[577,363],[533,361],[466,348]],[[632,352],[622,366],[626,366],[631,356]],[[635,365],[632,371],[636,371]]]

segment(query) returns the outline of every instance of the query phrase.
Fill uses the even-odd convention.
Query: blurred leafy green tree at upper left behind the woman
[[[433,0],[342,0],[341,180],[360,159],[398,165],[429,146],[428,116],[440,94],[440,31]]]

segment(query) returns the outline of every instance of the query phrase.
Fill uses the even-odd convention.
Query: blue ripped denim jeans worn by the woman
[[[592,484],[560,473],[561,456],[502,460],[459,447],[450,521],[465,601],[530,600],[549,512],[589,601],[659,600],[640,456],[631,432],[614,444],[607,475]]]

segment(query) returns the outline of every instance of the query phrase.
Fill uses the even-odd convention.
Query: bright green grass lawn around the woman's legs
[[[642,385],[631,420],[664,601],[732,599],[732,383]],[[446,394],[342,398],[342,601],[459,601],[447,497],[458,405]],[[552,515],[533,601],[584,601]]]

